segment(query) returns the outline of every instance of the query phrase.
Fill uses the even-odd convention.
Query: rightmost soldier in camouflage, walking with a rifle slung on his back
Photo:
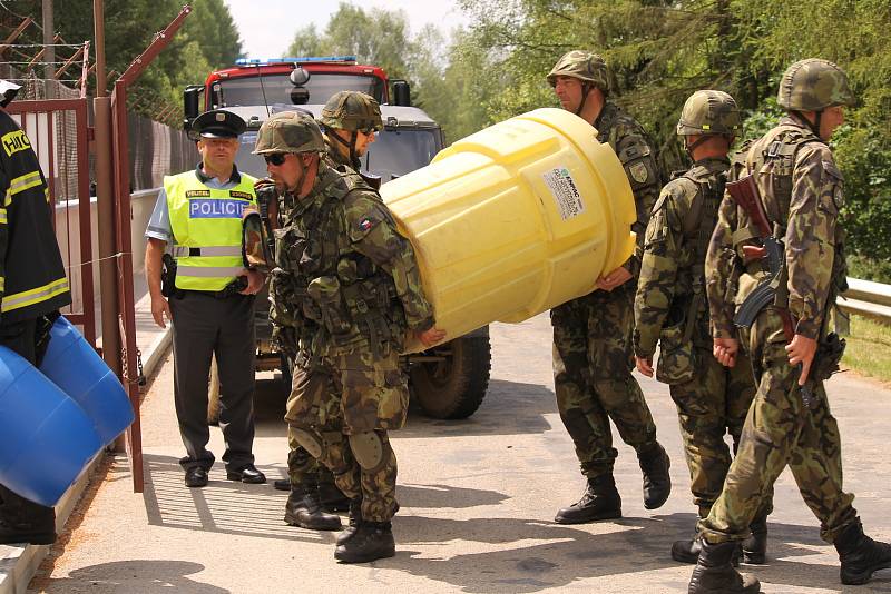
[[[842,177],[826,142],[853,100],[846,76],[834,63],[795,62],[777,96],[787,117],[731,167],[732,179],[754,176],[774,234],[785,245],[786,271],[774,301],[737,334],[736,307],[771,275],[764,259],[745,257],[758,246],[758,234],[746,211],[725,195],[706,257],[714,355],[731,365],[742,345],[758,387],[724,489],[699,522],[703,546],[692,594],[760,591],[757,580],[738,574],[731,558],[786,465],[820,519],[821,537],[839,552],[843,584],[863,584],[874,571],[891,566],[891,546],[863,534],[853,495],[842,489],[839,427],[820,375],[809,380],[817,345],[825,339],[829,309],[844,288],[838,220]],[[794,328],[789,344],[786,313]],[[803,403],[805,384],[812,388],[812,406]]]

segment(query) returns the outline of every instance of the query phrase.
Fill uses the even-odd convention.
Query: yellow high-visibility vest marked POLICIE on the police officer
[[[164,178],[177,288],[222,290],[242,273],[242,212],[256,205],[254,181],[242,174],[237,186],[224,190],[207,187],[195,171]]]

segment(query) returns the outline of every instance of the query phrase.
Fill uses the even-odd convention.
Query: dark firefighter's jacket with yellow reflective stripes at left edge
[[[0,111],[0,170],[9,186],[0,206],[0,307],[3,325],[32,319],[71,303],[53,206],[28,136]]]

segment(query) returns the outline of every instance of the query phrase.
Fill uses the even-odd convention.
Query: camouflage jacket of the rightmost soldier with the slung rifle
[[[785,245],[787,305],[795,333],[819,338],[826,304],[844,290],[844,232],[838,224],[843,205],[842,175],[824,141],[786,117],[747,150],[736,155],[728,178],[746,172],[756,184],[779,237]],[[767,277],[762,261],[745,264],[742,245],[754,244],[748,216],[724,196],[706,257],[706,291],[713,335],[735,336],[736,306]],[[780,299],[783,299],[781,291]],[[777,305],[785,305],[777,303]]]

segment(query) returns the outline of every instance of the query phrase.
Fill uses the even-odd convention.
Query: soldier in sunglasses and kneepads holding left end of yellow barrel
[[[255,147],[288,206],[270,288],[276,323],[293,328],[297,345],[285,420],[352,499],[335,558],[364,563],[395,552],[388,430],[404,424],[409,398],[399,352],[409,331],[424,345],[444,333],[433,325],[411,244],[380,196],[325,164],[324,151],[319,126],[294,111],[264,122]]]

